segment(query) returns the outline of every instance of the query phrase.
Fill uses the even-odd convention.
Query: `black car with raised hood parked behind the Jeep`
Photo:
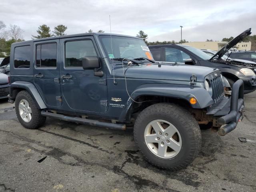
[[[148,47],[154,59],[164,64],[188,64],[218,68],[228,80],[230,87],[236,80],[241,79],[244,82],[244,93],[246,94],[256,90],[256,66],[234,60],[223,60],[222,56],[240,40],[250,35],[250,31],[251,29],[244,31],[214,56],[209,56],[202,50],[188,45],[160,44]]]

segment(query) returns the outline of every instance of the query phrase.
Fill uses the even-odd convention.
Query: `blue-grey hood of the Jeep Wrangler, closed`
[[[121,74],[115,69],[115,73],[124,76],[122,68]],[[148,64],[133,66],[125,71],[126,78],[138,79],[159,79],[159,80],[180,80],[190,81],[192,75],[195,75],[197,82],[204,82],[204,77],[214,72],[216,68],[188,65],[158,65]]]

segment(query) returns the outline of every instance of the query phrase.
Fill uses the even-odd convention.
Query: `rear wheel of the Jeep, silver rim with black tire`
[[[41,115],[36,102],[27,91],[20,91],[15,99],[15,110],[19,122],[28,129],[36,129],[42,126],[46,117]]]

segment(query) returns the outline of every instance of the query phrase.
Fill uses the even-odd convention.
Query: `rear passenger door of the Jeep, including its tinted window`
[[[48,107],[61,106],[59,40],[34,43],[34,83]]]

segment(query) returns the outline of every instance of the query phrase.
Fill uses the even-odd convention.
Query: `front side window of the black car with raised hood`
[[[185,63],[185,60],[189,58],[190,56],[188,54],[184,53],[179,49],[171,48],[171,47],[165,48],[166,62]]]

